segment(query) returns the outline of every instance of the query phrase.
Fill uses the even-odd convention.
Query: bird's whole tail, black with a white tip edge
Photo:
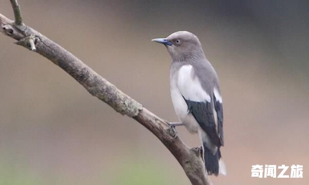
[[[204,161],[205,168],[209,175],[214,174],[218,176],[218,174],[226,175],[226,169],[224,162],[221,158],[220,149],[217,150],[215,154],[203,142],[203,150],[204,150]]]

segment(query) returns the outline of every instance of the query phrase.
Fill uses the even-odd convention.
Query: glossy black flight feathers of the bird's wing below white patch
[[[183,97],[184,98],[184,97]],[[216,122],[211,102],[197,102],[184,98],[188,106],[188,114],[192,114],[200,127],[207,133],[210,140],[217,147],[223,146],[223,112],[222,104],[213,98],[215,104],[215,111],[217,114],[218,128],[216,129]],[[217,133],[218,130],[218,133]]]

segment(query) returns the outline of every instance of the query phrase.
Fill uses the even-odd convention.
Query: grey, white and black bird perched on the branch
[[[189,132],[198,133],[208,174],[226,175],[220,152],[224,143],[219,80],[199,39],[188,31],[178,31],[152,41],[165,45],[172,58],[171,97],[180,122],[171,125],[184,125]]]

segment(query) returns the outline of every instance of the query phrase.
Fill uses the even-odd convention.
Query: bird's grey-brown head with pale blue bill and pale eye
[[[152,41],[165,45],[173,61],[182,61],[190,57],[204,57],[197,36],[188,31],[177,31],[167,38],[155,38]]]

